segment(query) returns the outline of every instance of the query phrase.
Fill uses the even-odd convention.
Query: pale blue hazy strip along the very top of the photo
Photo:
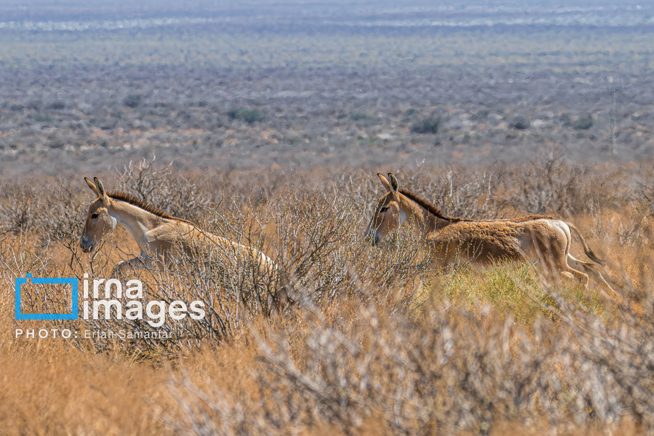
[[[10,1],[0,29],[84,31],[161,25],[343,25],[471,27],[546,25],[654,26],[654,5],[640,1]]]

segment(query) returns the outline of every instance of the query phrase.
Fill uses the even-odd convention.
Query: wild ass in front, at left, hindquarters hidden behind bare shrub
[[[97,177],[94,177],[95,184],[87,177],[84,180],[97,199],[88,208],[80,239],[82,251],[94,250],[116,227],[128,229],[141,250],[139,257],[119,263],[114,274],[130,265],[162,267],[179,258],[180,254],[208,254],[211,250],[218,252],[220,261],[230,258],[253,260],[259,273],[274,269],[273,261],[256,248],[202,231],[195,224],[175,218],[130,193],[107,192]]]

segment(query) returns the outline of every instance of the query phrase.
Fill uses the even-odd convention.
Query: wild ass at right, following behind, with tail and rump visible
[[[497,262],[538,261],[545,272],[576,278],[585,288],[591,275],[600,285],[613,290],[593,263],[577,260],[570,254],[572,229],[591,260],[600,260],[586,244],[571,222],[551,216],[529,215],[508,220],[469,220],[446,216],[432,203],[413,192],[400,188],[398,179],[377,173],[388,190],[379,198],[366,236],[377,244],[388,232],[413,223],[422,241],[428,244],[432,265],[445,268],[453,260],[479,268]],[[568,260],[582,265],[586,273],[568,265]]]

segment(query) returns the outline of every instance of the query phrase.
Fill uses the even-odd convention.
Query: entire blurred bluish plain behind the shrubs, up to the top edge
[[[650,159],[638,1],[4,1],[0,173]]]

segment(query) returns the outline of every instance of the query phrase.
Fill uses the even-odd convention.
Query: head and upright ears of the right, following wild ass
[[[388,179],[380,173],[377,175],[388,192],[379,197],[375,214],[366,230],[366,238],[373,245],[379,244],[389,231],[400,229],[407,220],[406,212],[400,207],[398,179],[392,173],[388,173]]]

